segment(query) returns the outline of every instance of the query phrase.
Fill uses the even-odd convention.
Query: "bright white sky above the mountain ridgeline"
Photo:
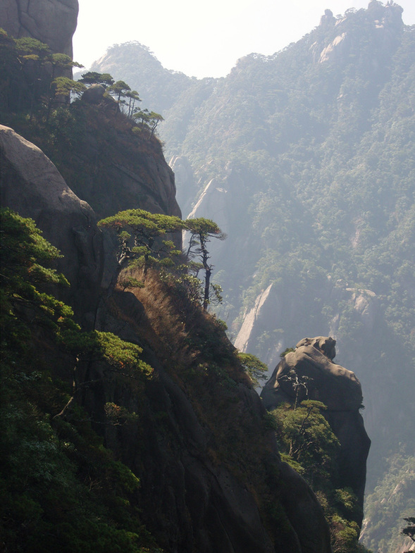
[[[396,0],[415,23],[415,0]],[[74,59],[89,68],[108,46],[137,40],[167,69],[222,77],[238,58],[274,54],[334,15],[369,0],[79,0]],[[386,4],[386,0],[383,1]]]

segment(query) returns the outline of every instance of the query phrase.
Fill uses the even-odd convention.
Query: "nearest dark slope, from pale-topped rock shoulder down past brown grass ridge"
[[[35,217],[59,245],[75,316],[83,328],[94,322],[92,334],[69,325],[69,342],[64,329],[58,339],[53,310],[62,304],[49,304],[42,318],[44,295],[40,310],[24,288],[25,308],[15,304],[16,292],[5,295],[1,532],[8,550],[66,551],[67,543],[102,552],[116,545],[135,553],[144,546],[329,552],[323,510],[280,461],[264,407],[221,326],[201,309],[176,320],[180,302],[156,274],[140,299],[113,290],[115,251],[94,211],[34,144],[5,127],[0,144],[2,206]],[[2,278],[20,271],[9,242],[19,219],[10,223],[2,213]],[[20,241],[24,255],[30,237],[20,233]],[[5,292],[11,286],[2,282]],[[62,311],[61,325],[67,316]],[[14,343],[13,325],[24,330],[23,343]],[[103,356],[95,346],[88,353],[85,340],[97,338],[108,348]]]

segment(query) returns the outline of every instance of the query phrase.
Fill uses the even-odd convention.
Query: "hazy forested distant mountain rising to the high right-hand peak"
[[[414,456],[414,41],[393,2],[328,10],[283,51],[153,104],[183,213],[228,235],[212,256],[235,345],[271,375],[299,336],[330,335],[361,380],[369,492],[399,443]]]

